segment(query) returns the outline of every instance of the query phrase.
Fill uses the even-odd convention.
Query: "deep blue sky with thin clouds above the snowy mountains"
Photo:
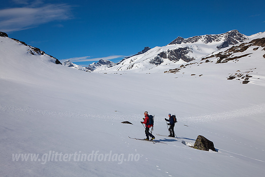
[[[60,61],[87,66],[165,46],[178,36],[265,31],[265,3],[178,0],[9,0],[0,31]]]

